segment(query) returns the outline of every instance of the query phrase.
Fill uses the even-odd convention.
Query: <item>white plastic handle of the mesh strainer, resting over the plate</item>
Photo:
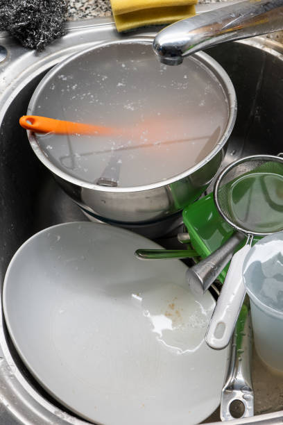
[[[250,244],[245,245],[232,258],[205,335],[207,345],[213,349],[225,348],[233,335],[234,326],[246,294],[242,268],[249,250]]]

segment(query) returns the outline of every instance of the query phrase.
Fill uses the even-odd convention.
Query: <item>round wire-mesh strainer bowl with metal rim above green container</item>
[[[254,235],[283,230],[280,158],[251,157],[237,162],[219,176],[216,186],[214,198],[218,210],[235,228]]]

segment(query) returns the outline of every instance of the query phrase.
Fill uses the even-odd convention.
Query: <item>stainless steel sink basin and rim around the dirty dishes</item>
[[[141,34],[150,37],[154,32],[137,31],[132,36]],[[27,238],[53,224],[87,220],[37,160],[18,119],[26,113],[31,94],[48,69],[80,49],[119,38],[123,36],[117,34],[110,19],[70,24],[67,35],[43,53],[24,49],[0,33],[1,286],[12,255]],[[208,53],[230,75],[239,103],[225,164],[252,153],[283,151],[283,46],[266,38],[253,38],[221,44]],[[0,320],[0,424],[86,424],[37,384],[12,346],[2,311]],[[254,376],[261,373],[260,368],[256,362]],[[257,381],[261,383],[260,378]],[[275,390],[273,395],[271,410],[278,410]],[[264,397],[264,392],[255,388],[257,397]],[[256,408],[257,413],[260,411]],[[217,418],[214,414],[209,420]],[[282,423],[283,411],[236,419],[231,424],[256,422]]]

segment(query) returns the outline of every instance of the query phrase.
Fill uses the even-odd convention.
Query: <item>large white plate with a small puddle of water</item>
[[[189,425],[220,400],[227,350],[204,341],[211,294],[195,299],[157,244],[89,222],[60,224],[15,253],[3,289],[12,340],[37,381],[105,425]]]

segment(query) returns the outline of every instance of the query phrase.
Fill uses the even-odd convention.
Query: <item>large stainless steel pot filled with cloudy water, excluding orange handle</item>
[[[88,213],[139,224],[173,215],[207,188],[236,110],[230,78],[205,53],[170,67],[158,62],[151,38],[124,39],[55,66],[27,111],[113,133],[28,131],[28,138]]]

